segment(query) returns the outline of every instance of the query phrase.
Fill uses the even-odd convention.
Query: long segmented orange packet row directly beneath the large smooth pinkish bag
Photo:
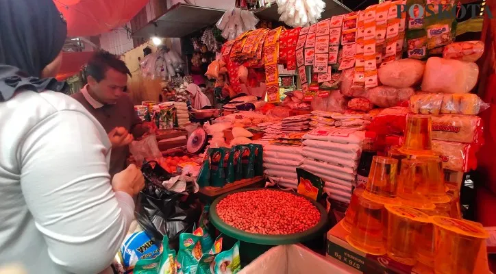
[[[477,115],[489,108],[477,95],[423,93],[410,97],[410,111],[417,114]]]

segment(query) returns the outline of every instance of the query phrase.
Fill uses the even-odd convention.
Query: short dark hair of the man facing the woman
[[[86,65],[86,77],[92,76],[97,82],[100,82],[105,78],[105,73],[110,68],[132,77],[131,71],[127,69],[125,62],[108,51],[97,51],[92,56],[88,61],[88,65]]]

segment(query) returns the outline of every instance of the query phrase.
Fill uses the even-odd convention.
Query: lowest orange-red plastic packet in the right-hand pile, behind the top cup
[[[443,169],[467,172],[477,169],[477,146],[460,142],[432,140],[432,151],[441,155]]]

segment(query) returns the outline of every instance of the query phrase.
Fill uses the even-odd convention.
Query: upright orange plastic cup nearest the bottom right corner
[[[434,271],[436,274],[472,274],[484,239],[482,225],[444,216],[431,217],[434,224]]]

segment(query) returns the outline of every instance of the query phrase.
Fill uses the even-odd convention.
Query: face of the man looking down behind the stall
[[[105,73],[105,78],[97,82],[95,78],[88,77],[88,85],[92,92],[98,97],[101,103],[114,104],[117,99],[123,95],[127,86],[127,74],[120,73],[115,69],[108,69]]]

